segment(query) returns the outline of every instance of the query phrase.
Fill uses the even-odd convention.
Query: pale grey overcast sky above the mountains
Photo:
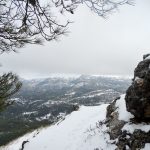
[[[25,78],[51,73],[133,75],[142,55],[150,52],[149,18],[149,0],[123,6],[108,19],[80,6],[71,17],[68,36],[0,55],[0,71]]]

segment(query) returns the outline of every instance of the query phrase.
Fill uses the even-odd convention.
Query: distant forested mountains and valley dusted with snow
[[[0,145],[41,126],[50,125],[77,105],[109,103],[124,93],[129,78],[112,76],[51,76],[22,80],[14,104],[0,114]]]

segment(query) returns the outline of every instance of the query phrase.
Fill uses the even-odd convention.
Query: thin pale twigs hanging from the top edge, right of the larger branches
[[[121,5],[134,5],[134,0],[53,0],[53,2],[56,7],[61,7],[62,12],[65,10],[72,14],[79,4],[85,4],[101,17],[106,17]]]

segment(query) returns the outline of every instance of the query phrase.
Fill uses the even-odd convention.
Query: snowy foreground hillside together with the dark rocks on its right
[[[134,70],[126,94],[110,104],[81,106],[58,123],[2,150],[149,150],[150,54]]]

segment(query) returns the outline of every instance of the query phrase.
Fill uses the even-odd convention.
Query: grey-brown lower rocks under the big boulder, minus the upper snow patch
[[[142,129],[136,129],[135,126],[148,126],[149,123],[137,123],[129,121],[119,120],[119,111],[116,106],[117,98],[107,107],[106,121],[105,124],[108,128],[108,134],[110,135],[110,140],[113,140],[113,144],[117,146],[115,150],[140,150],[145,147],[146,143],[150,143],[150,130],[144,131]],[[126,114],[126,112],[124,112]],[[133,132],[125,128],[135,128]],[[150,126],[148,127],[150,129]]]

